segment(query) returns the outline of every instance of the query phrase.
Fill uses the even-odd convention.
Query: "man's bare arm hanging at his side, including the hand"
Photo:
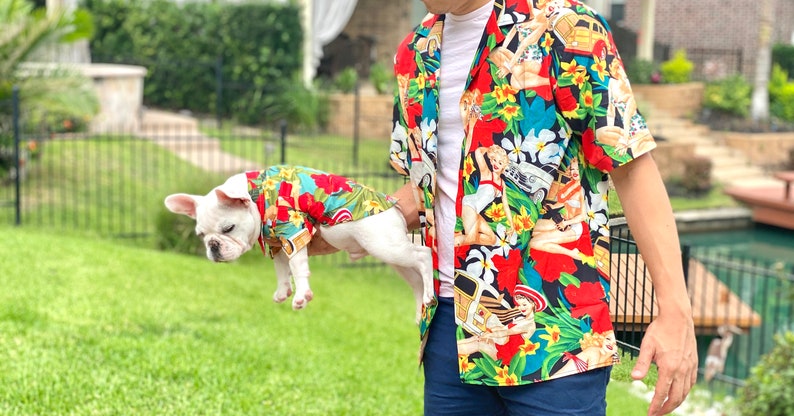
[[[670,200],[650,154],[616,168],[612,182],[629,229],[648,266],[659,313],[642,340],[631,375],[645,377],[651,362],[659,371],[649,416],[672,412],[697,381],[697,345],[692,306],[684,282],[681,247]]]

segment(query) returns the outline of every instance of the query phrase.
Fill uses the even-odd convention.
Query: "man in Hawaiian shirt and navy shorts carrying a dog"
[[[648,414],[671,412],[697,377],[691,306],[655,144],[606,22],[575,0],[423,2],[395,56],[391,163],[411,177],[395,196],[437,268],[420,328],[425,414],[605,414],[618,350],[595,247],[609,238],[609,176],[659,304],[632,376],[655,362]],[[494,334],[516,288],[547,306],[505,348]]]

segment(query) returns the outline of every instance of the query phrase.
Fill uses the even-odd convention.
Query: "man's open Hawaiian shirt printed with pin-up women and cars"
[[[390,156],[415,185],[436,268],[443,27],[443,15],[428,15],[397,50]],[[608,173],[655,143],[606,21],[575,0],[495,0],[459,107],[461,379],[529,384],[612,365]],[[520,307],[518,286],[541,293],[545,308]],[[423,339],[434,311],[423,312]],[[515,337],[504,334],[516,326],[521,345],[506,355],[501,346]]]

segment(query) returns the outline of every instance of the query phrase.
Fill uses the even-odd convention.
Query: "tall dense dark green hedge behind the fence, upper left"
[[[94,61],[149,70],[146,105],[204,114],[220,110],[255,124],[301,117],[293,98],[306,93],[296,5],[83,0],[83,7],[95,18]]]

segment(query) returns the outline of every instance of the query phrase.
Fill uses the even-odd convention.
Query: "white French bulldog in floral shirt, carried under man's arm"
[[[169,195],[165,206],[196,220],[212,261],[236,260],[259,243],[275,263],[273,300],[293,294],[292,275],[295,310],[314,296],[308,245],[318,235],[353,261],[371,255],[397,271],[411,286],[417,321],[433,299],[430,248],[413,243],[396,200],[342,176],[277,165],[233,175],[204,196]]]

